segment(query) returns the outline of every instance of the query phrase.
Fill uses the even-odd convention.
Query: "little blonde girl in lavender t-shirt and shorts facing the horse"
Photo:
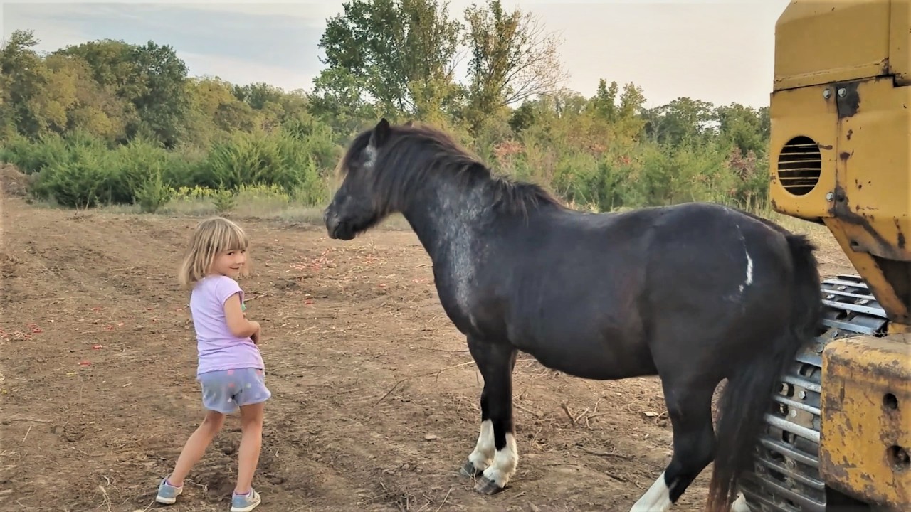
[[[260,457],[263,405],[271,393],[258,347],[260,324],[247,320],[243,291],[234,281],[245,273],[249,244],[234,222],[220,217],[203,220],[180,266],[180,284],[192,289],[189,309],[199,352],[197,380],[208,412],[189,436],[173,472],[161,480],[155,498],[159,503],[176,501],[183,479],[219,433],[225,415],[240,407],[241,447],[230,510],[249,512],[260,505],[251,482]]]

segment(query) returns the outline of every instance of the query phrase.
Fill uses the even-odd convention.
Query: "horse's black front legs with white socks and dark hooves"
[[[502,491],[516,473],[518,451],[513,431],[512,371],[516,349],[468,336],[468,350],[484,377],[481,391],[481,432],[462,473],[476,476],[475,490],[482,494]]]

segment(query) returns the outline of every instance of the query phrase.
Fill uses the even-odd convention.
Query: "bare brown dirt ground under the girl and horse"
[[[197,219],[2,206],[0,509],[163,508],[159,479],[203,415],[173,277]],[[481,378],[414,234],[343,243],[241,221],[255,243],[241,286],[273,394],[258,510],[626,511],[668,463],[657,380],[585,381],[522,355],[518,472],[506,492],[476,494],[457,471]],[[824,273],[850,272],[827,243]],[[228,510],[239,440],[235,416],[164,508]],[[708,476],[677,509],[700,509]]]

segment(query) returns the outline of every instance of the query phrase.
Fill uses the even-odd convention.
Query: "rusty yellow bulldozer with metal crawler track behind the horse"
[[[773,210],[860,275],[822,283],[740,490],[753,512],[911,511],[911,2],[793,0],[774,55]]]

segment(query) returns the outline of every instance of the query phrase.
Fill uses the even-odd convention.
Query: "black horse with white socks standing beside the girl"
[[[771,221],[688,203],[623,213],[561,206],[495,177],[444,133],[382,119],[354,138],[323,220],[349,241],[401,212],[440,302],[484,376],[463,473],[502,490],[516,471],[518,351],[588,379],[659,375],[673,456],[632,510],[663,511],[714,461],[709,510],[732,506],[779,374],[816,334],[814,245]],[[727,378],[718,437],[711,398]]]

